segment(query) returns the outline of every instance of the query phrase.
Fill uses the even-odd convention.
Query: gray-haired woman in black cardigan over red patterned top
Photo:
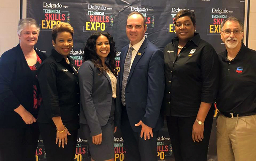
[[[39,138],[36,122],[41,94],[37,69],[46,58],[34,48],[39,36],[36,20],[19,21],[19,44],[0,59],[0,160],[35,160]]]

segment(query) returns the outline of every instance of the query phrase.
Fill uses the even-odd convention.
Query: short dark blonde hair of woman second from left
[[[69,32],[73,36],[74,28],[72,28],[72,26],[67,22],[61,22],[58,25],[54,26],[54,28],[52,29],[52,40],[55,43],[58,33],[60,32]]]

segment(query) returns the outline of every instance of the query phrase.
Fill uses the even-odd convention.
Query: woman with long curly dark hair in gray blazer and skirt
[[[84,63],[78,71],[80,84],[80,127],[91,160],[114,161],[114,135],[120,119],[116,48],[107,32],[93,33],[84,48]]]

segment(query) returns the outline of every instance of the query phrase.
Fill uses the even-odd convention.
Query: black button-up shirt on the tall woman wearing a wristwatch
[[[198,33],[178,53],[178,37],[164,50],[165,114],[196,116],[201,102],[214,103],[219,81],[218,56]]]

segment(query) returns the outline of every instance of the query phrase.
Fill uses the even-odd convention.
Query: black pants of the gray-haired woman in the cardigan
[[[0,128],[0,161],[35,161],[37,122],[25,128]]]

